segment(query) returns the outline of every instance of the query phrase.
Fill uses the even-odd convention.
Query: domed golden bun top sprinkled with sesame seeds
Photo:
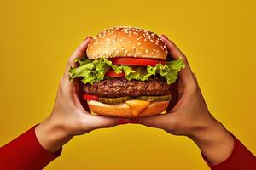
[[[116,26],[93,37],[86,54],[89,59],[134,57],[166,60],[167,48],[154,32]]]

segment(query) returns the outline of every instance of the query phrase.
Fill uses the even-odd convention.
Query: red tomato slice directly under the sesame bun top
[[[139,66],[155,66],[158,63],[163,65],[166,64],[166,61],[156,60],[156,59],[136,59],[130,57],[119,57],[110,59],[114,65],[139,65]]]

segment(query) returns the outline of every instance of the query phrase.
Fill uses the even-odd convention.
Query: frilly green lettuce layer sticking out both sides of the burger
[[[159,74],[161,77],[166,78],[168,84],[176,81],[178,72],[184,68],[183,59],[177,59],[168,62],[166,65],[157,64],[154,67],[148,65],[131,66],[131,65],[113,65],[112,62],[105,58],[100,59],[75,59],[79,63],[79,67],[70,68],[70,81],[74,78],[82,77],[84,84],[99,82],[104,79],[105,73],[112,68],[116,73],[125,72],[127,80],[136,79],[140,81],[148,80],[148,77]]]

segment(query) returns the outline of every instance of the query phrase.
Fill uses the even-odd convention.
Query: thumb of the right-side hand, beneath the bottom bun
[[[174,118],[170,113],[157,115],[157,116],[143,117],[137,120],[138,120],[138,123],[143,124],[147,127],[156,127],[164,130],[172,127],[174,123]]]

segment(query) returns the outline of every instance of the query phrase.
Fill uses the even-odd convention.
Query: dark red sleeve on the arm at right
[[[234,137],[234,149],[230,157],[225,161],[220,162],[216,165],[212,165],[207,158],[203,156],[204,160],[207,162],[208,166],[212,170],[256,170],[256,157],[253,153],[247,150],[247,148],[241,144],[241,142]]]

